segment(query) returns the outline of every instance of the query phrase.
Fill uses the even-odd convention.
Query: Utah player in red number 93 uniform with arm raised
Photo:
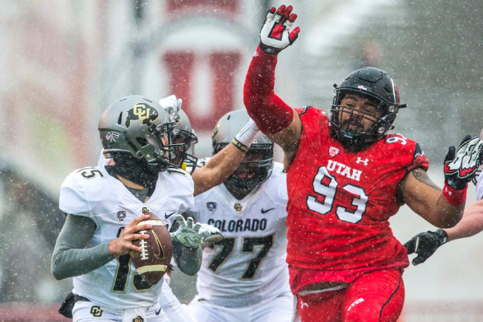
[[[483,142],[467,136],[450,148],[441,191],[419,145],[388,134],[405,105],[386,72],[352,72],[330,116],[292,109],[273,91],[277,54],[300,30],[291,11],[268,11],[243,89],[249,115],[284,151],[290,287],[302,321],[396,321],[409,261],[388,219],[406,203],[437,227],[456,225]]]

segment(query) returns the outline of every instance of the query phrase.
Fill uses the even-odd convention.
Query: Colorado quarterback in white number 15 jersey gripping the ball
[[[172,233],[173,256],[184,273],[199,270],[199,244],[210,232],[177,216],[193,205],[194,185],[174,162],[193,142],[173,142],[176,121],[168,112],[142,96],[111,104],[99,132],[115,164],[76,170],[61,186],[59,208],[67,217],[52,255],[52,273],[59,280],[74,277],[74,321],[167,321],[157,301],[161,283],[143,281],[128,255],[140,251],[132,240],[149,237],[135,234],[150,228],[137,225],[148,218],[147,211],[168,227],[175,218],[184,224]]]

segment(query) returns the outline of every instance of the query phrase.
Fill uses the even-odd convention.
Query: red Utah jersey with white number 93
[[[302,121],[287,169],[287,263],[294,293],[320,282],[346,282],[369,271],[403,269],[406,249],[389,217],[401,203],[400,181],[429,162],[415,141],[388,134],[361,152],[345,151],[327,114],[296,109]]]

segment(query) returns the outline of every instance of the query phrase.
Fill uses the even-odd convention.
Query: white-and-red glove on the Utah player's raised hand
[[[260,49],[269,54],[277,54],[291,45],[298,37],[299,27],[290,32],[297,15],[292,12],[292,6],[280,5],[268,10],[265,22],[260,30]]]

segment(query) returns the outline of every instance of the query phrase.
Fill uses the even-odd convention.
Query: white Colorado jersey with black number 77
[[[200,299],[240,308],[289,292],[287,198],[286,174],[276,162],[271,176],[242,200],[224,184],[195,197],[196,220],[225,237],[203,250],[196,284]]]

